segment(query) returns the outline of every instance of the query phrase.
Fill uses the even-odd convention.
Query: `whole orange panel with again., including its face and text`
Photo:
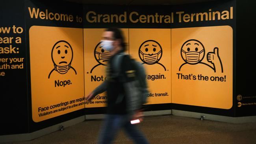
[[[145,67],[148,103],[171,103],[171,29],[129,29],[129,53]]]

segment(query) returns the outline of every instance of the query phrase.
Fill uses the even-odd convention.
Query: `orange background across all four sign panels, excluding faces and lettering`
[[[102,81],[91,81],[91,76],[105,78],[104,65],[99,65],[94,56],[95,46],[102,39],[105,29],[79,29],[59,28],[46,26],[32,26],[30,36],[30,65],[31,65],[31,89],[32,89],[32,117],[35,122],[40,122],[55,116],[70,113],[85,107],[105,107],[106,103],[93,103],[80,105],[72,109],[60,111],[39,117],[38,107],[46,107],[61,102],[86,97]],[[149,92],[168,93],[168,96],[154,96],[148,98],[147,104],[178,103],[184,105],[195,105],[202,107],[213,107],[230,109],[232,107],[233,90],[233,30],[230,26],[211,26],[197,28],[176,29],[122,29],[125,42],[128,44],[127,52],[132,58],[141,62],[139,58],[139,47],[147,40],[157,41],[162,48],[159,63],[145,66],[147,76],[164,75],[164,79],[147,79]],[[224,72],[214,72],[206,65],[184,65],[180,50],[182,44],[189,39],[197,39],[205,48],[203,63],[210,66],[207,61],[208,52],[213,52],[215,47],[219,48]],[[68,41],[73,49],[73,60],[71,66],[75,68],[77,75],[72,72],[58,74],[53,72],[50,79],[48,74],[54,68],[51,51],[57,41]],[[198,79],[178,79],[177,73],[184,75],[193,74],[197,76],[226,76],[226,81],[200,81]],[[196,77],[197,78],[197,77]],[[54,87],[55,80],[70,80],[72,85],[66,87]],[[99,94],[106,96],[106,93]],[[93,100],[106,101],[106,100]],[[61,108],[61,107],[58,107]],[[49,111],[52,111],[51,109]],[[46,111],[47,112],[47,111]]]

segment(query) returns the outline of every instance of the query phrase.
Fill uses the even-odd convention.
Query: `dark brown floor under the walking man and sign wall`
[[[102,120],[90,120],[25,142],[7,144],[95,144]],[[229,124],[180,116],[151,116],[139,124],[150,144],[256,144],[256,123]],[[115,144],[133,142],[120,131]]]

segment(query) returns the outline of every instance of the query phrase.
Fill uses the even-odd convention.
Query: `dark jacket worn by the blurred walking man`
[[[108,114],[134,114],[139,109],[138,91],[136,88],[135,67],[129,55],[119,58],[121,52],[109,59],[106,69],[106,80],[93,92],[99,94],[107,91]]]

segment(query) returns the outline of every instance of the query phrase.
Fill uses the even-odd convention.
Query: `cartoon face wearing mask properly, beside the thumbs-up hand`
[[[182,59],[191,65],[200,63],[204,58],[205,49],[203,44],[195,39],[190,39],[182,45],[180,50]]]

